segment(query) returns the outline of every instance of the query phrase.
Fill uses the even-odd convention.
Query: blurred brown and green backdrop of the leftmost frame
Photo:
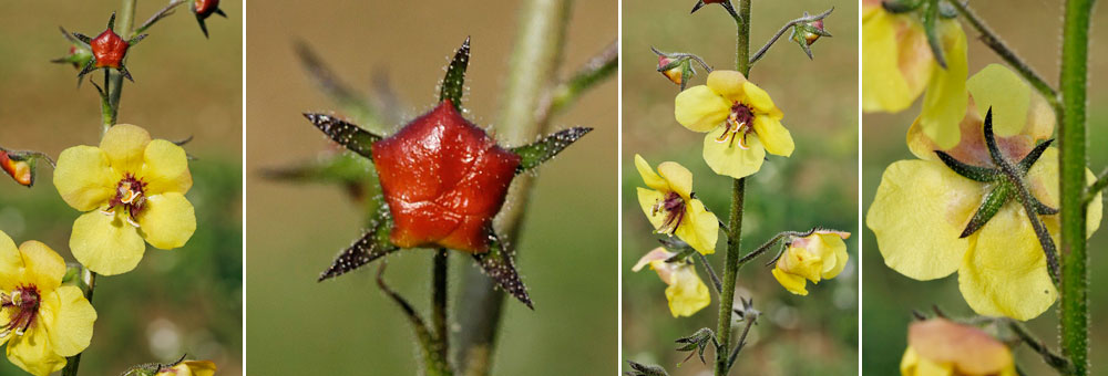
[[[165,6],[140,1],[136,19]],[[90,35],[104,30],[120,1],[14,1],[0,12],[0,145],[58,157],[74,145],[96,145],[100,101],[76,87],[70,65],[50,64],[69,49],[59,25]],[[187,7],[187,6],[186,6]],[[208,20],[205,40],[192,13],[150,31],[131,50],[136,84],[124,86],[121,123],[156,138],[195,136],[185,148],[194,186],[197,230],[185,247],[146,248],[134,271],[98,279],[92,345],[82,375],[117,375],[140,363],[172,362],[188,353],[214,361],[219,375],[242,374],[242,4],[225,1],[229,19]],[[101,73],[93,76],[102,79]],[[66,206],[40,164],[34,188],[0,178],[0,230],[17,243],[41,240],[74,262],[69,236],[79,212]],[[6,359],[0,374],[22,372]]]

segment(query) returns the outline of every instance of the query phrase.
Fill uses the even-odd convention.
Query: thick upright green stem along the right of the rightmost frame
[[[1088,77],[1089,22],[1094,0],[1066,1],[1061,44],[1061,101],[1058,114],[1061,178],[1063,281],[1061,351],[1074,363],[1074,375],[1085,376],[1088,358],[1088,253],[1086,253],[1085,104]]]

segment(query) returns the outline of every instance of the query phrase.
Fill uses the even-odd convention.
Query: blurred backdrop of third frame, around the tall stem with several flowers
[[[644,186],[634,156],[652,165],[678,161],[694,175],[694,190],[726,220],[730,179],[712,174],[704,163],[702,134],[674,119],[678,87],[656,72],[661,51],[702,56],[716,69],[733,69],[735,24],[719,6],[689,15],[695,1],[625,1],[623,71],[623,349],[622,359],[665,366],[673,375],[708,375],[710,367],[689,361],[673,341],[700,327],[716,327],[716,304],[693,317],[674,318],[666,305],[665,284],[653,271],[630,268],[658,246],[638,206],[635,189]],[[739,271],[738,296],[752,296],[763,321],[751,331],[750,346],[736,363],[736,375],[858,374],[858,4],[856,1],[804,0],[753,3],[751,50],[803,11],[820,13],[835,7],[824,22],[833,38],[812,45],[809,61],[788,33],[753,66],[751,80],[769,92],[784,112],[782,123],[797,144],[791,158],[771,156],[748,180],[743,217],[743,252],[783,230],[823,226],[852,232],[847,241],[851,262],[838,278],[809,284],[808,296],[781,288],[768,268],[769,258]],[[690,85],[704,84],[701,71]],[[720,236],[710,260],[721,271],[725,240]],[[699,269],[700,276],[708,275]],[[718,299],[712,293],[714,303]],[[738,302],[738,300],[736,300]],[[737,334],[736,334],[737,336]],[[626,366],[624,366],[626,367]]]

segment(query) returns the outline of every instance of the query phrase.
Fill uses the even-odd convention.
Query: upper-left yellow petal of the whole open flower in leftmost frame
[[[54,188],[73,209],[89,211],[115,195],[115,174],[107,154],[92,146],[74,146],[58,156]]]

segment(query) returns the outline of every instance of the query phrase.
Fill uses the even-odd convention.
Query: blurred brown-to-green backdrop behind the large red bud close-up
[[[252,7],[246,49],[252,372],[411,375],[419,363],[407,320],[373,282],[376,264],[316,282],[334,257],[361,236],[360,207],[334,186],[274,182],[259,174],[314,160],[331,145],[300,113],[339,108],[305,74],[294,42],[309,43],[363,93],[375,74],[387,74],[403,101],[389,108],[411,119],[433,106],[448,58],[472,35],[466,116],[495,129],[512,126],[490,123],[504,100],[520,10],[519,2],[507,0],[270,1]],[[617,32],[615,2],[577,1],[572,13],[563,75]],[[616,93],[613,77],[553,121],[555,128],[596,130],[538,170],[522,237],[513,239],[535,311],[511,299],[504,302],[495,375],[604,375],[617,368]],[[424,314],[430,259],[425,250],[403,251],[388,259],[386,273],[392,288]],[[462,271],[474,268],[470,260],[451,255],[453,306]],[[453,326],[456,334],[460,328]]]

